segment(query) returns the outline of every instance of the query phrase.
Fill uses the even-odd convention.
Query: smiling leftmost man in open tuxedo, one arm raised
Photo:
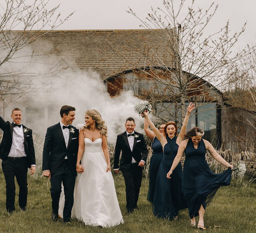
[[[33,175],[36,171],[35,149],[32,138],[32,129],[21,123],[22,112],[19,108],[12,110],[13,122],[5,121],[0,116],[0,128],[4,131],[0,144],[0,158],[6,182],[6,210],[12,213],[15,210],[15,182],[16,176],[19,185],[19,206],[26,210],[28,184],[27,172]]]

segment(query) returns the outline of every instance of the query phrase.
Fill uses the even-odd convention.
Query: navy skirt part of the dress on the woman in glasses
[[[148,186],[147,200],[150,201],[151,203],[153,202],[155,186],[156,186],[156,177],[157,177],[159,166],[162,160],[163,160],[163,153],[153,153],[150,159],[149,186]]]

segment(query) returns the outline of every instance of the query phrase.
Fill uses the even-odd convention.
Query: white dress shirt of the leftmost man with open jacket
[[[24,132],[23,132],[23,126],[20,123],[19,126],[13,127],[13,133],[12,133],[12,146],[10,149],[10,152],[8,154],[8,157],[27,157],[24,147]],[[35,164],[32,164],[31,166],[36,166]]]

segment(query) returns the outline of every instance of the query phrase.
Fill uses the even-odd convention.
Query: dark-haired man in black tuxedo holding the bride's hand
[[[51,180],[52,220],[58,219],[61,183],[64,186],[64,222],[70,222],[74,203],[78,129],[71,126],[75,108],[64,105],[60,109],[61,121],[47,129],[43,149],[43,175]]]

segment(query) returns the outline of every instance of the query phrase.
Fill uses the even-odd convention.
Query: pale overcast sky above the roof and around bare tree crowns
[[[27,0],[33,2],[33,0]],[[153,8],[162,7],[162,0],[51,0],[50,7],[60,3],[58,11],[61,17],[65,18],[69,13],[75,12],[68,21],[61,25],[59,30],[77,30],[77,29],[138,29],[140,22],[131,14],[128,14],[128,6],[141,18],[145,19],[150,12],[150,6]],[[174,0],[176,6],[179,0]],[[187,6],[191,0],[187,0],[184,12],[187,13]],[[206,9],[212,1],[195,0],[195,6]],[[206,33],[218,31],[220,27],[225,26],[227,20],[230,21],[232,32],[239,31],[247,21],[246,31],[240,38],[237,46],[244,47],[247,43],[255,42],[256,35],[256,1],[253,0],[216,0],[219,8],[206,30]]]

